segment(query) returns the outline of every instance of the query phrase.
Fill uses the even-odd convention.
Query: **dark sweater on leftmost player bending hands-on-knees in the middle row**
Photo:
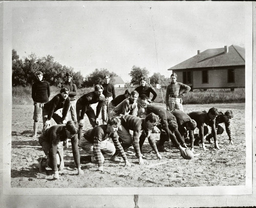
[[[70,97],[68,97],[65,100],[63,99],[60,93],[55,95],[49,102],[45,103],[44,105],[44,109],[48,110],[48,117],[47,117],[48,120],[52,118],[52,115],[55,111],[61,108],[63,108],[62,120],[66,119],[67,114],[69,112],[69,107],[70,107]]]

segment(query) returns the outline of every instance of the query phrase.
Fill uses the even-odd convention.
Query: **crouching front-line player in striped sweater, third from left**
[[[142,159],[142,153],[140,151],[140,133],[142,132],[142,137],[146,137],[151,147],[157,154],[158,159],[162,159],[160,153],[157,150],[156,143],[151,137],[151,130],[154,126],[157,126],[159,118],[156,114],[151,113],[146,116],[145,119],[138,118],[132,115],[121,116],[121,126],[118,128],[117,134],[119,139],[122,141],[121,145],[123,149],[129,148],[133,145],[135,150],[135,155],[139,159],[139,165],[143,165],[144,161]],[[129,131],[133,131],[133,137],[130,135]],[[114,154],[117,155],[117,152]],[[113,161],[118,161],[119,159],[113,157]]]

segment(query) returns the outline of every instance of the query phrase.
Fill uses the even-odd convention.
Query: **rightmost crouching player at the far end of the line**
[[[220,126],[220,123],[225,123],[225,128],[226,128],[226,132],[229,138],[229,144],[233,144],[233,140],[232,140],[232,133],[231,133],[231,127],[230,127],[230,119],[233,118],[233,112],[231,110],[228,110],[225,112],[225,114],[223,112],[219,112],[219,115],[217,116],[217,118],[215,119],[215,127],[217,130],[217,135],[222,134],[224,132],[224,129],[222,126]],[[205,138],[206,141],[208,141],[209,143],[211,143],[210,139],[212,138],[212,134],[208,134]]]

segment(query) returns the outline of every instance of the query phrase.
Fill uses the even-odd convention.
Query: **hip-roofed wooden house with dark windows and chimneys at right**
[[[245,48],[231,45],[207,49],[169,68],[191,89],[245,88]]]

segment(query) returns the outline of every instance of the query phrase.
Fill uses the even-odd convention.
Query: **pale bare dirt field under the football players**
[[[159,103],[155,105],[162,106]],[[22,188],[101,188],[101,187],[195,187],[195,186],[236,186],[245,185],[245,105],[227,103],[215,105],[185,105],[185,113],[208,110],[216,107],[226,111],[231,109],[234,118],[231,128],[234,145],[228,145],[226,132],[218,136],[220,150],[206,143],[207,151],[195,146],[196,153],[201,153],[192,160],[185,160],[179,150],[172,148],[171,153],[161,153],[163,159],[157,160],[154,152],[144,153],[146,165],[138,165],[135,155],[127,155],[132,167],[124,167],[124,162],[104,162],[104,172],[97,170],[97,165],[82,162],[84,175],[76,175],[72,149],[64,149],[65,168],[59,180],[53,180],[53,171],[43,175],[38,169],[38,158],[44,152],[33,134],[33,106],[14,105],[12,107],[12,159],[11,187]],[[90,129],[89,120],[86,128]],[[224,127],[224,125],[222,125]],[[39,123],[39,129],[42,123]],[[225,128],[225,127],[224,127]],[[159,134],[153,134],[155,141]],[[166,144],[166,148],[168,148]],[[79,148],[80,156],[83,150]],[[134,152],[133,148],[129,148]],[[146,141],[143,151],[151,150]]]

